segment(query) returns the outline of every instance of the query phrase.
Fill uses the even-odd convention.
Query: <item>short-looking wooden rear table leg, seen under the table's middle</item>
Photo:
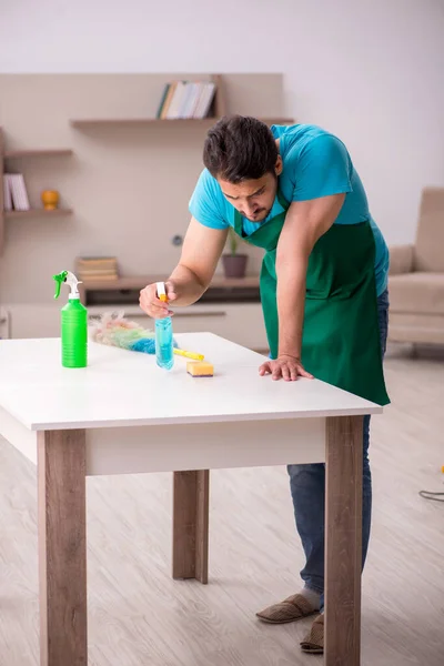
[[[210,472],[174,472],[173,578],[208,583]]]

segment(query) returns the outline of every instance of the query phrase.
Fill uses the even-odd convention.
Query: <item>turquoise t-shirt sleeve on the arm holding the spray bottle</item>
[[[223,194],[218,192],[218,188],[215,179],[208,169],[204,169],[191,195],[189,210],[192,216],[204,226],[226,229],[229,222],[225,220],[221,205]]]

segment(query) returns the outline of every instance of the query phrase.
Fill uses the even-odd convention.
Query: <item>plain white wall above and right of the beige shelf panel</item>
[[[14,0],[2,72],[280,72],[286,111],[347,144],[390,243],[444,184],[441,0]],[[1,100],[0,100],[1,103]]]

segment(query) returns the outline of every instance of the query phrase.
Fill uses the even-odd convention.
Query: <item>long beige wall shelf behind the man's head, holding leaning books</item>
[[[83,118],[70,120],[73,128],[107,128],[107,127],[196,127],[211,125],[218,122],[219,118],[178,118],[178,119],[159,119],[159,118]],[[292,124],[294,121],[291,118],[260,118],[266,124]]]

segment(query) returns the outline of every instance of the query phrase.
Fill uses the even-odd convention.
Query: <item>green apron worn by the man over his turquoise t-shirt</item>
[[[272,359],[279,347],[276,246],[290,206],[280,191],[278,198],[284,212],[251,235],[244,235],[242,216],[234,211],[235,232],[265,250],[260,287]],[[317,380],[386,405],[374,263],[370,222],[333,224],[319,239],[306,272],[301,360]]]

